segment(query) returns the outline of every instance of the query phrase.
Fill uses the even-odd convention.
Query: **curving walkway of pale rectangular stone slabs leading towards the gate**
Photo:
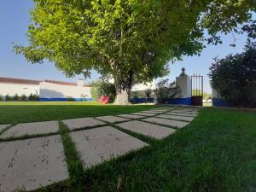
[[[61,121],[87,169],[149,145],[126,131],[160,140],[189,125],[197,111],[157,108]],[[68,178],[58,121],[0,125],[0,139],[0,192],[39,189]]]

